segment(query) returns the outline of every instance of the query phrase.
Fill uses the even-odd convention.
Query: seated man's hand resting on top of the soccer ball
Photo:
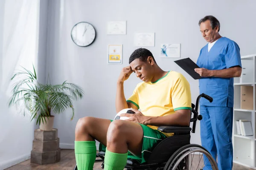
[[[145,125],[145,121],[147,120],[147,116],[144,116],[140,111],[137,109],[131,108],[132,111],[135,112],[135,114],[130,114],[130,113],[122,113],[120,116],[126,116],[129,119],[126,119],[126,121],[130,122],[135,122],[135,123],[140,123]]]

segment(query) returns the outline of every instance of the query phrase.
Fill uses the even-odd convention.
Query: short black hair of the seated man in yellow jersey
[[[134,59],[140,59],[143,62],[146,62],[148,59],[148,56],[151,56],[154,59],[153,54],[146,48],[138,48],[137,50],[135,50],[130,58],[129,58],[129,64],[131,64],[131,62],[133,62]],[[156,63],[155,59],[154,62]]]

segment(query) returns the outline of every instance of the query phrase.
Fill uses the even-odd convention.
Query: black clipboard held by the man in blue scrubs
[[[201,79],[202,77],[195,72],[195,68],[200,68],[195,64],[190,58],[179,59],[174,61],[177,65],[179,65],[184,71],[186,71],[193,79]]]

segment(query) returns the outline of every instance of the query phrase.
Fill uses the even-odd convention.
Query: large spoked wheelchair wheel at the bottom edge
[[[215,160],[204,147],[198,144],[187,144],[170,157],[164,170],[204,170],[208,163],[211,164],[212,170],[218,170]]]

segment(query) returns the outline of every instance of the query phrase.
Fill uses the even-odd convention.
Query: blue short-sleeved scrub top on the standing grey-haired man
[[[240,48],[236,42],[221,37],[209,52],[208,44],[201,49],[197,65],[208,70],[222,70],[238,65],[241,67]],[[206,77],[199,79],[200,94],[204,93],[213,98],[212,103],[207,99],[201,99],[200,105],[233,108],[233,83],[234,78]]]

